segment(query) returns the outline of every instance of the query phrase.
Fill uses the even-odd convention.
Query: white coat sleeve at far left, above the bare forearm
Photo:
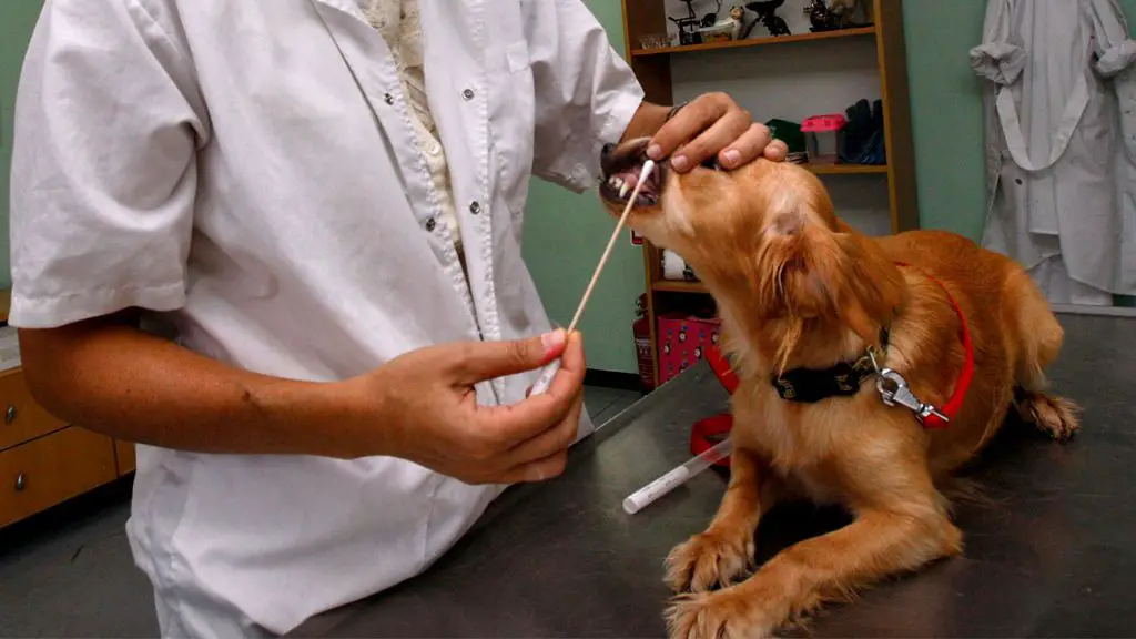
[[[151,13],[160,6],[44,3],[17,88],[15,326],[184,302],[207,130],[187,56]]]

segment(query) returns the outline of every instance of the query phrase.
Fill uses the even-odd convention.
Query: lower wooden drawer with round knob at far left
[[[117,476],[114,440],[75,426],[0,451],[0,526]]]

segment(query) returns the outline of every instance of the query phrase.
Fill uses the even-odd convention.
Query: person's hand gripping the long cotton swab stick
[[[474,384],[538,368],[560,357],[548,392],[510,406],[481,406]],[[511,342],[458,342],[415,350],[344,382],[386,447],[466,483],[558,476],[583,408],[584,350],[563,331]],[[369,410],[361,410],[367,416]],[[366,429],[366,424],[359,428]]]

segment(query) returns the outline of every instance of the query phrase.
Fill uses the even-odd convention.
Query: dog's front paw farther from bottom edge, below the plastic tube
[[[667,557],[667,584],[675,592],[729,586],[753,561],[753,534],[707,531],[676,546]]]

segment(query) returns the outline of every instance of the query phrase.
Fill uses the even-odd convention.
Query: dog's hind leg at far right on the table
[[[1014,406],[1022,420],[1037,425],[1053,439],[1064,441],[1080,428],[1077,405],[1051,395],[1045,379],[1045,368],[1061,350],[1064,331],[1050,310],[1049,302],[1031,283],[1019,290],[1025,294],[1017,308],[1022,352]]]

